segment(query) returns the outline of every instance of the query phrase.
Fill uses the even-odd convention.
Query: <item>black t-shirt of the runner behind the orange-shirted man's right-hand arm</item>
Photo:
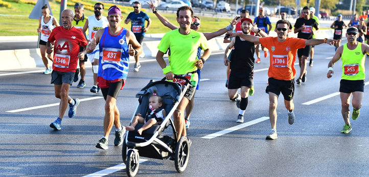
[[[311,34],[312,28],[318,29],[318,23],[312,18],[309,18],[308,20],[304,17],[297,18],[295,22],[295,28],[298,29],[302,27],[305,24],[306,29],[298,31],[297,38],[301,39],[312,39],[313,34]]]

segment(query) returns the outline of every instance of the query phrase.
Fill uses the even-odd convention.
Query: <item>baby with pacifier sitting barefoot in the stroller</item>
[[[146,113],[145,117],[142,117],[140,113],[133,117],[131,125],[126,127],[127,131],[134,131],[137,123],[145,123],[143,127],[137,132],[142,135],[144,130],[149,129],[152,125],[159,125],[163,122],[164,117],[167,116],[167,112],[164,107],[164,100],[159,96],[154,90],[149,98],[149,111]]]

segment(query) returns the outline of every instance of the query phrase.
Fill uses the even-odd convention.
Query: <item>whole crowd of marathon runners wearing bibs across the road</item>
[[[194,107],[194,95],[199,89],[201,68],[211,54],[207,40],[223,34],[226,34],[224,42],[229,43],[223,59],[226,66],[226,87],[229,99],[236,102],[239,108],[236,122],[244,122],[243,116],[247,108],[248,96],[255,91],[253,89],[253,68],[255,63],[261,62],[259,45],[264,51],[264,57],[269,56],[270,62],[268,86],[265,92],[269,95],[269,118],[272,130],[266,139],[274,140],[278,138],[276,108],[279,95],[282,93],[284,97],[285,107],[288,110],[288,122],[293,124],[295,121],[293,111],[295,82],[297,85],[306,82],[309,56],[309,66],[313,66],[314,50],[312,47],[326,43],[336,46],[336,53],[328,64],[327,78],[333,76],[334,64],[342,59],[339,91],[345,124],[341,133],[349,133],[352,130],[350,98],[353,95],[352,119],[355,120],[359,117],[363,98],[365,54],[369,53],[369,45],[362,43],[364,37],[367,38],[366,24],[364,20],[361,20],[365,19],[365,16],[357,18],[356,15],[347,26],[342,21],[342,15],[338,15],[338,19],[331,26],[334,29],[334,39],[315,39],[319,31],[319,21],[313,15],[315,9],[304,7],[303,17],[297,18],[293,27],[286,20],[286,13],[282,13],[282,19],[275,24],[274,32],[277,36],[269,37],[272,24],[269,17],[264,14],[264,8],[260,8],[259,16],[254,20],[250,19],[247,10],[243,10],[240,17],[235,17],[225,28],[211,33],[200,33],[198,30],[201,27],[201,20],[198,16],[194,16],[190,7],[178,8],[176,13],[178,27],[160,14],[152,2],[148,4],[160,22],[172,30],[164,35],[157,46],[158,65],[163,69],[167,80],[173,80],[175,75],[181,75],[191,81],[186,96],[181,99],[173,113],[178,139],[181,136],[187,136],[186,129],[190,126],[190,115]],[[129,56],[135,59],[134,71],[139,71],[141,67],[139,62],[139,56],[143,52],[141,44],[151,25],[151,19],[141,11],[139,2],[134,2],[133,8],[134,12],[129,13],[124,20],[126,24],[131,22],[131,29],[128,30],[120,27],[123,16],[121,9],[117,6],[111,6],[108,9],[108,16],[104,17],[102,15],[104,5],[96,3],[95,14],[85,17],[83,4],[76,3],[74,12],[70,9],[62,11],[61,26],[56,18],[49,14],[49,7],[47,5],[42,7],[43,16],[39,19],[38,32],[42,33],[40,50],[47,68],[44,73],[51,73],[51,84],[54,84],[55,96],[60,99],[58,118],[50,124],[51,128],[61,130],[61,121],[68,106],[70,108],[68,117],[72,118],[76,114],[79,99],[71,98],[68,92],[72,83],[78,80],[80,81],[77,88],[85,87],[84,62],[89,61],[93,65],[94,74],[94,85],[90,91],[94,93],[101,91],[105,99],[104,133],[96,147],[108,149],[108,137],[113,125],[115,127],[114,145],[123,143],[126,128],[120,122],[120,112],[116,104],[117,97],[127,79]],[[146,21],[147,26],[145,27]],[[349,28],[344,35],[348,43],[340,46],[342,29],[347,27]],[[298,33],[297,38],[288,37],[290,32]],[[203,50],[202,55],[201,50]],[[53,52],[54,56],[51,55]],[[254,58],[255,53],[257,60]],[[165,54],[169,55],[169,64],[164,60]],[[300,67],[297,77],[294,66],[296,54]],[[48,64],[48,59],[53,61],[52,69]],[[143,121],[143,119],[139,120],[140,116],[137,115],[137,121]],[[127,130],[134,130],[134,125]]]

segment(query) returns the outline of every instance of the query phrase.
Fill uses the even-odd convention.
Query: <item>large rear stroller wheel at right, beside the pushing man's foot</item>
[[[187,137],[181,137],[177,143],[177,147],[175,149],[175,160],[174,165],[175,169],[181,173],[186,169],[188,160],[190,155],[189,142]]]

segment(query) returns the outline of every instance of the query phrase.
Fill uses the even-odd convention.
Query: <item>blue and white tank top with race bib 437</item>
[[[126,29],[122,29],[117,36],[109,34],[106,27],[99,42],[100,57],[98,77],[112,81],[127,79],[129,67],[128,44],[126,41]]]

